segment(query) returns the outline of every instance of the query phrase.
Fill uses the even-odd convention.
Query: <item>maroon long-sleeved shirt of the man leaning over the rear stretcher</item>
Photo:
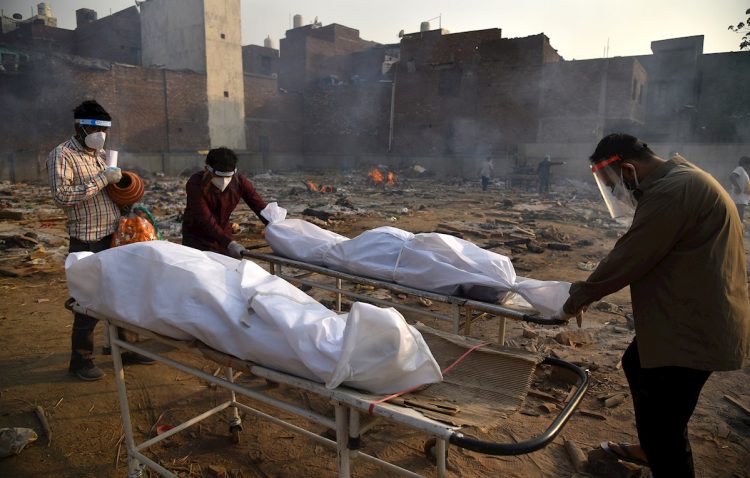
[[[224,191],[204,182],[204,171],[190,176],[185,190],[187,206],[182,217],[182,244],[202,251],[227,254],[227,246],[232,242],[232,224],[229,216],[240,199],[263,221],[260,215],[266,201],[260,197],[252,183],[240,173],[232,176],[232,181]]]

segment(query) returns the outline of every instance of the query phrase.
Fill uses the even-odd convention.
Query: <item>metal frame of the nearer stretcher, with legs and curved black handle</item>
[[[177,475],[146,456],[144,450],[228,408],[230,409],[231,414],[229,433],[235,442],[239,441],[239,433],[242,431],[242,420],[239,415],[239,411],[242,410],[257,417],[269,420],[294,432],[300,433],[322,445],[335,448],[337,452],[338,476],[340,478],[349,478],[351,476],[351,463],[354,459],[367,461],[401,476],[422,477],[423,475],[419,475],[406,468],[389,463],[359,450],[361,437],[365,432],[376,425],[378,420],[390,420],[433,437],[435,440],[434,459],[437,467],[436,474],[439,478],[444,478],[446,476],[446,458],[449,444],[478,453],[506,456],[531,453],[545,447],[555,439],[567,421],[571,418],[575,409],[583,400],[583,396],[589,386],[588,371],[584,371],[563,360],[553,357],[545,358],[541,364],[566,369],[577,377],[578,383],[575,385],[575,393],[573,393],[570,400],[567,401],[557,417],[542,434],[521,442],[487,442],[465,436],[460,432],[460,427],[427,418],[411,408],[395,405],[387,401],[378,402],[383,396],[371,395],[346,387],[328,389],[322,383],[278,372],[252,362],[237,359],[236,357],[211,349],[197,341],[186,342],[171,339],[132,324],[105,317],[94,310],[80,306],[73,299],[70,299],[66,303],[66,307],[73,312],[86,314],[102,320],[108,329],[110,345],[112,347],[112,360],[114,365],[115,383],[117,385],[120,415],[122,418],[123,433],[128,452],[128,478],[141,478],[146,468],[151,469],[164,477],[177,478]],[[136,343],[130,343],[120,339],[117,333],[118,328],[130,330],[137,333],[140,337],[150,338],[180,351],[189,352],[192,355],[199,355],[205,359],[211,360],[223,368],[224,377],[217,377],[208,374],[191,365],[147,350]],[[184,373],[227,389],[230,393],[229,399],[160,435],[137,444],[133,436],[133,427],[130,418],[125,370],[123,368],[121,357],[122,351],[131,351],[144,355],[161,364],[176,368]],[[314,393],[319,397],[329,399],[334,407],[334,417],[330,418],[312,410],[288,403],[284,400],[271,397],[264,394],[262,391],[243,387],[235,383],[235,370],[250,373],[256,377],[265,379],[267,382],[275,382],[290,387],[296,387],[306,392]],[[306,428],[241,403],[237,400],[238,395],[269,405],[283,412],[291,413],[312,423],[333,429],[336,431],[336,440],[331,440]],[[362,415],[366,418],[368,414],[374,418],[371,420],[362,420]]]

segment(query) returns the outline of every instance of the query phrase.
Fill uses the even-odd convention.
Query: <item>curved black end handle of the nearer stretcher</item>
[[[549,445],[573,415],[573,412],[581,403],[581,400],[583,400],[583,396],[589,388],[589,374],[588,371],[584,371],[572,363],[553,357],[545,358],[542,363],[568,369],[578,375],[581,380],[578,384],[578,390],[576,390],[575,395],[573,395],[570,401],[565,407],[563,407],[560,414],[557,415],[557,418],[555,418],[543,434],[518,443],[494,443],[467,437],[462,433],[455,433],[451,435],[448,441],[458,447],[483,453],[485,455],[523,455],[531,453],[532,451],[540,450]]]

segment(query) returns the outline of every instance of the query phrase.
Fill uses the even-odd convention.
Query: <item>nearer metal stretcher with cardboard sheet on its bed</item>
[[[343,278],[340,277],[337,280]],[[394,287],[406,293],[407,288]],[[435,299],[440,297],[437,294],[429,293],[424,293],[422,296]],[[363,299],[371,300],[368,297],[363,297]],[[340,307],[340,298],[338,303]],[[491,304],[465,301],[460,305],[477,307],[479,310],[489,308],[493,312],[498,312]],[[424,390],[407,391],[403,394],[394,394],[388,397],[371,395],[347,387],[327,389],[321,383],[239,360],[197,341],[174,340],[105,317],[94,310],[81,307],[72,300],[69,301],[67,307],[75,312],[103,320],[108,327],[120,413],[128,450],[129,478],[143,476],[146,468],[162,476],[176,477],[177,475],[168,470],[163,463],[158,463],[147,456],[147,449],[226,409],[229,409],[231,414],[229,433],[235,441],[239,441],[242,431],[242,420],[239,412],[244,411],[300,433],[318,443],[335,448],[339,477],[351,476],[351,463],[355,459],[375,464],[402,476],[422,476],[363,450],[363,445],[366,445],[363,435],[373,428],[378,421],[387,420],[397,423],[432,437],[425,444],[425,453],[431,459],[434,459],[437,476],[444,477],[446,476],[446,456],[449,444],[489,455],[520,455],[545,447],[570,419],[588,389],[588,373],[568,362],[552,357],[540,357],[525,351],[484,344],[475,339],[441,333],[419,324],[417,325],[418,329],[430,346],[438,364],[444,370],[443,382],[430,385]],[[512,317],[515,318],[516,316]],[[540,320],[533,317],[529,319],[531,321]],[[154,353],[138,344],[126,342],[118,338],[118,327],[131,330],[141,337],[156,340],[180,351],[213,361],[224,369],[224,377],[205,373],[178,359]],[[149,438],[142,443],[136,443],[128,405],[125,372],[120,356],[123,350],[142,354],[161,364],[174,367],[184,373],[227,389],[229,399],[160,435]],[[467,430],[472,430],[472,434],[475,434],[472,427],[477,427],[479,423],[498,423],[517,411],[525,400],[534,377],[534,370],[539,365],[567,370],[572,373],[576,382],[572,384],[575,386],[575,392],[572,393],[570,399],[543,433],[528,440],[513,443],[496,443],[465,434],[465,432],[468,433]],[[333,405],[333,416],[315,412],[304,404],[294,403],[290,399],[291,397],[283,393],[281,393],[281,397],[275,396],[272,393],[273,389],[236,383],[235,371],[251,374],[254,377],[265,379],[267,382],[280,384],[281,387],[302,390],[328,400]],[[571,375],[570,373],[568,375]],[[270,406],[282,413],[292,414],[305,422],[335,430],[336,438],[335,440],[329,439],[251,405],[240,403],[238,401],[240,395],[254,402]],[[479,428],[476,428],[477,432]]]

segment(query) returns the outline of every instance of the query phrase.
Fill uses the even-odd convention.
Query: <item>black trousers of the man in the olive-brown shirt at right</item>
[[[692,478],[687,424],[711,372],[685,367],[642,368],[634,339],[622,356],[635,425],[654,478]]]

